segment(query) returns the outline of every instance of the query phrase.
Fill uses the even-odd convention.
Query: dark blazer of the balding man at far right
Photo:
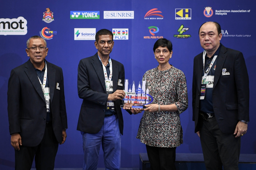
[[[195,132],[199,131],[199,101],[203,70],[203,53],[194,58],[192,105]],[[226,68],[230,75],[222,76]],[[249,121],[249,77],[243,54],[221,46],[217,57],[212,91],[212,105],[218,126],[223,133],[234,133],[239,120]]]

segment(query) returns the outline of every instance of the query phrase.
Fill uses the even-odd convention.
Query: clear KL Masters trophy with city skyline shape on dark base
[[[128,90],[129,88],[129,90]],[[146,81],[139,82],[138,87],[135,89],[135,83],[129,84],[129,80],[124,80],[124,92],[123,104],[121,108],[146,108],[145,105],[153,102],[153,97],[149,94],[149,90],[146,89]]]

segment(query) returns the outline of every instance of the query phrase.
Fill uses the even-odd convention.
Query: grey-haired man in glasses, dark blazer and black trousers
[[[8,82],[8,118],[15,169],[54,169],[58,144],[66,140],[67,113],[62,69],[45,60],[46,41],[27,41],[29,60],[14,68]]]

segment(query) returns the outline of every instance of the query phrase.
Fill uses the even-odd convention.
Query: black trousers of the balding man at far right
[[[200,141],[207,170],[238,170],[241,137],[222,133],[215,117],[202,120]],[[234,129],[235,131],[235,129]]]

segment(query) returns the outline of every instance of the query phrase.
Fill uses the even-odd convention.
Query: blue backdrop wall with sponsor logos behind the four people
[[[250,122],[241,138],[241,153],[256,153],[255,137],[255,1],[2,1],[0,10],[0,169],[14,169],[7,116],[7,84],[11,69],[25,63],[26,41],[33,35],[46,39],[46,59],[63,69],[68,116],[67,140],[59,146],[55,167],[82,167],[82,137],[76,130],[82,99],[77,94],[79,60],[94,55],[95,33],[114,34],[111,58],[125,67],[125,78],[136,87],[145,71],[157,67],[153,45],[158,38],[173,43],[170,64],[187,79],[189,107],[180,115],[184,143],[178,153],[202,153],[192,121],[193,58],[201,53],[198,29],[206,21],[221,25],[221,43],[239,50],[250,78]],[[145,144],[136,139],[142,114],[123,112],[121,167],[138,167]],[[34,166],[34,165],[33,165]],[[98,167],[104,167],[100,151]]]

